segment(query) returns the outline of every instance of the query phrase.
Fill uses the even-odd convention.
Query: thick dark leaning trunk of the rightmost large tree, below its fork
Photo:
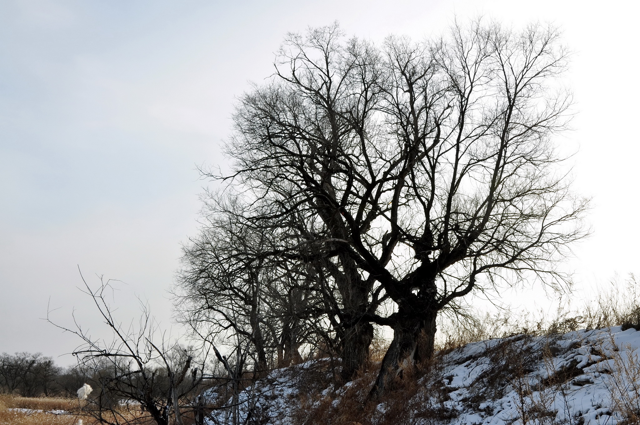
[[[394,339],[385,353],[369,396],[378,397],[392,380],[402,378],[403,371],[414,371],[415,366],[433,357],[437,310],[429,310],[419,317],[400,309],[394,325]]]

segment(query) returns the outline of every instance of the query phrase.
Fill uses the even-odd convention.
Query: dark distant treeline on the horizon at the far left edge
[[[65,369],[42,353],[2,353],[0,392],[23,397],[76,396],[87,376],[77,369]]]

